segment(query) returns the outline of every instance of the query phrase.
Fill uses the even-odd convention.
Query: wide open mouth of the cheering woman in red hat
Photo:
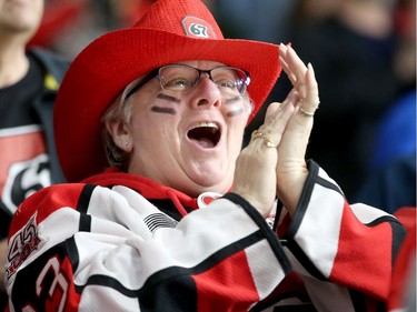
[[[201,148],[215,148],[220,141],[221,131],[216,122],[199,122],[190,129],[187,137],[198,143]]]

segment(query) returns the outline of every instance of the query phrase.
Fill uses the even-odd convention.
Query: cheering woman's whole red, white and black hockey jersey
[[[9,311],[376,311],[405,230],[349,205],[309,162],[275,228],[230,192],[205,207],[105,172],[27,199],[11,224]]]

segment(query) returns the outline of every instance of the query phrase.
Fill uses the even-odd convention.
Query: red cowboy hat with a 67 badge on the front
[[[72,61],[58,92],[54,135],[68,181],[78,182],[108,167],[100,118],[133,80],[178,61],[211,60],[249,72],[254,112],[281,71],[278,46],[225,39],[199,0],[159,0],[131,28],[109,32]]]

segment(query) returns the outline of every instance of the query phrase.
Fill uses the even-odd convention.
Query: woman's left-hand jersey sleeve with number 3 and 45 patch
[[[176,222],[123,187],[53,185],[16,213],[7,291],[10,311],[248,311],[288,271],[236,194]]]

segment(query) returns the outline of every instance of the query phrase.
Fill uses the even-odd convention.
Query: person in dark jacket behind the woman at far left
[[[0,310],[7,303],[7,236],[17,207],[51,183],[63,182],[56,155],[52,110],[69,62],[28,42],[43,0],[0,2]]]

